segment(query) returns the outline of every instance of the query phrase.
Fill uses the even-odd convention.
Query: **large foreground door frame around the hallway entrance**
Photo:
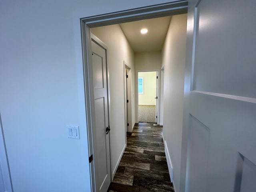
[[[84,101],[85,101],[85,103],[84,101],[81,101],[81,103],[85,104],[84,108],[85,108],[85,116],[86,116],[89,157],[93,154],[92,128],[95,125],[92,117],[94,114],[93,78],[92,78],[92,74],[90,74],[90,71],[92,71],[92,55],[90,54],[92,52],[91,28],[106,26],[106,25],[113,25],[113,24],[120,24],[124,22],[132,22],[132,21],[138,21],[138,20],[144,20],[144,19],[171,16],[171,15],[177,15],[177,14],[185,14],[187,12],[188,12],[188,0],[180,0],[180,1],[170,2],[170,3],[156,4],[151,6],[134,8],[130,10],[122,10],[118,12],[111,12],[107,14],[100,14],[96,16],[79,18],[80,19],[79,32],[81,35],[80,43],[82,46],[81,56],[82,56],[82,67],[83,67],[83,88],[84,88]],[[75,31],[78,31],[77,28],[75,28]],[[78,55],[80,55],[80,53],[78,53]],[[137,76],[138,75],[136,75],[136,77]],[[109,72],[108,72],[107,78],[109,79]],[[80,81],[78,83],[80,84]],[[109,86],[109,82],[108,82],[108,86]],[[109,92],[108,92],[108,102],[110,104]],[[138,111],[137,111],[137,114],[138,114]],[[109,113],[109,118],[110,118],[110,113]],[[111,143],[111,139],[110,139],[110,143]],[[111,148],[110,148],[110,152],[111,152]],[[110,154],[110,159],[111,159],[111,154]],[[89,166],[90,166],[91,191],[94,192],[96,190],[95,190],[93,163],[89,163]],[[113,176],[112,176],[112,179],[113,179]]]

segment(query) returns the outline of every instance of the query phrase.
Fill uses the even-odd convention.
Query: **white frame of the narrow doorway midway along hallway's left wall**
[[[126,70],[128,70],[128,78],[126,78]],[[126,83],[127,82],[127,83]],[[131,73],[131,67],[124,61],[124,114],[125,114],[125,120],[127,117],[127,121],[125,121],[125,126],[128,126],[128,130],[126,129],[126,132],[132,132],[132,73]],[[127,87],[126,87],[127,86]],[[126,92],[127,90],[127,92]],[[127,95],[127,96],[126,96]],[[126,102],[128,100],[128,104]]]

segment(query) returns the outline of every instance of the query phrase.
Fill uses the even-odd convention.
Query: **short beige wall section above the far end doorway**
[[[161,69],[161,52],[135,53],[135,70],[156,70]]]

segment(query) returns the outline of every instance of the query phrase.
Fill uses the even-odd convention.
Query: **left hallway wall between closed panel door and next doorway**
[[[124,114],[124,61],[130,65],[132,76],[134,76],[134,52],[118,24],[92,28],[91,30],[94,35],[108,46],[108,67],[110,76],[110,142],[112,172],[115,172],[115,168],[117,168],[119,164],[126,144]],[[135,108],[134,87],[135,86],[133,84],[133,110]],[[133,122],[135,122],[135,119],[133,119]]]

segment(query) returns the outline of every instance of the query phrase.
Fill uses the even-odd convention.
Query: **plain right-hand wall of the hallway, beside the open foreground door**
[[[187,14],[172,16],[162,49],[162,65],[164,65],[163,136],[173,166],[173,182],[176,192],[180,191],[186,19]]]

